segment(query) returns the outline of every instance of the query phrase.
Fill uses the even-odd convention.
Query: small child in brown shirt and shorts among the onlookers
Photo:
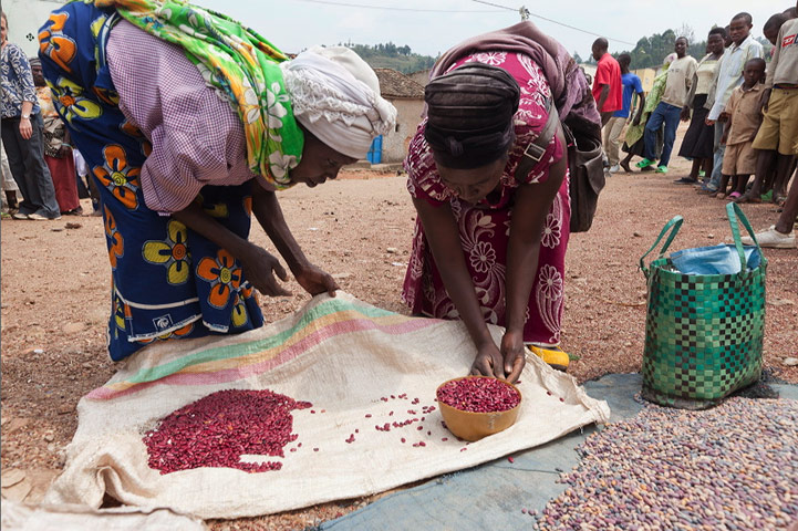
[[[754,138],[761,124],[761,105],[765,94],[765,60],[752,59],[745,63],[743,84],[734,90],[722,115],[726,127],[721,144],[726,146],[718,198],[737,199],[745,194],[748,178],[756,171],[757,154]],[[732,178],[732,192],[726,196],[726,186]]]

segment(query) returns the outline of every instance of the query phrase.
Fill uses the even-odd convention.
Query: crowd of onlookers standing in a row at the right
[[[798,155],[796,8],[775,13],[763,27],[773,45],[769,64],[753,28],[752,15],[742,12],[727,27],[711,29],[699,61],[687,55],[687,39],[677,38],[647,95],[630,72],[630,56],[613,58],[607,40],[598,39],[593,97],[604,127],[605,164],[609,174],[632,171],[636,155],[640,171],[666,174],[678,123],[690,122],[678,155],[692,160],[691,173],[674,183],[719,199],[777,204],[781,216],[757,241],[795,248],[798,179],[788,185]],[[631,110],[634,94],[640,96],[636,112]],[[628,155],[620,160],[624,126]]]

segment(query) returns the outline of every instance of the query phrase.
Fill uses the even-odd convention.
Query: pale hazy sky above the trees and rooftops
[[[645,35],[676,30],[688,24],[697,40],[713,27],[728,24],[739,11],[754,17],[753,34],[775,12],[795,6],[794,0],[486,0],[529,11],[610,40],[610,51],[631,50]],[[260,32],[286,52],[299,52],[313,44],[359,44],[393,42],[410,45],[416,53],[437,55],[457,42],[520,21],[517,11],[486,6],[473,0],[193,0],[221,11]],[[330,3],[328,3],[330,2]],[[516,3],[518,2],[518,3]],[[524,3],[521,3],[524,2]],[[373,6],[393,9],[367,9]],[[438,10],[429,12],[424,10]],[[470,12],[469,12],[470,11]],[[573,53],[587,59],[595,35],[530,17],[541,30],[558,39]],[[620,42],[626,41],[628,43]]]

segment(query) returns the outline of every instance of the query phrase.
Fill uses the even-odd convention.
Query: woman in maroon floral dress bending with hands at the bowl
[[[405,160],[418,219],[403,299],[414,313],[463,320],[473,374],[516,381],[525,344],[560,342],[570,205],[559,121],[540,162],[516,176],[549,98],[524,53],[463,56],[427,85]],[[500,345],[486,323],[506,327]]]

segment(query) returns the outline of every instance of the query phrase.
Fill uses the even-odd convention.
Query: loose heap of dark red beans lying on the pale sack
[[[240,458],[247,454],[284,457],[286,445],[299,437],[291,433],[291,412],[311,406],[268,389],[211,393],[170,413],[144,434],[148,465],[162,475],[199,467],[279,470],[279,461],[240,462]]]

